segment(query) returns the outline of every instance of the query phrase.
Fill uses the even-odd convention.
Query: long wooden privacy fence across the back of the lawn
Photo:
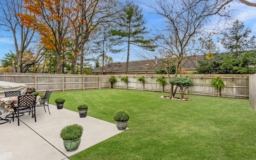
[[[109,77],[111,75],[77,75],[77,74],[28,74],[28,73],[0,73],[0,81],[27,84],[38,92],[73,91],[110,88]],[[126,83],[121,78],[128,76],[128,89],[142,90],[142,83],[137,82],[138,77],[144,76],[144,90],[162,92],[162,85],[156,82],[156,78],[164,76],[168,82],[167,75],[157,74],[128,74],[113,75],[116,78],[114,88],[126,89]],[[173,77],[174,75],[170,75]],[[187,94],[205,96],[218,96],[218,90],[210,85],[212,78],[220,77],[224,80],[225,88],[221,89],[221,97],[249,98],[249,75],[248,74],[183,74],[192,78],[194,86],[188,88]],[[164,85],[164,92],[170,92],[170,84]],[[166,94],[166,93],[165,93]],[[168,94],[167,94],[168,95]]]

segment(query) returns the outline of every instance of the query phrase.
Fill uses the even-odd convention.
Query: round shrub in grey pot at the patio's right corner
[[[129,118],[130,115],[126,110],[118,110],[114,112],[113,115],[113,119],[116,121],[116,127],[118,130],[126,129]]]

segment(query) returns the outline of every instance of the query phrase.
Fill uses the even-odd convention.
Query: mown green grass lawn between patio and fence
[[[112,115],[130,113],[128,128],[70,160],[255,160],[256,112],[249,100],[187,95],[192,101],[160,98],[168,93],[104,89],[52,93],[64,108],[114,123]],[[86,134],[86,128],[84,130]]]

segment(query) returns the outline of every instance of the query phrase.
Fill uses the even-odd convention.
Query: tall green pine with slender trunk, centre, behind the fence
[[[151,40],[144,39],[144,36],[148,32],[144,26],[146,21],[143,18],[142,9],[140,9],[138,5],[134,4],[134,2],[126,2],[123,8],[124,9],[119,17],[120,21],[117,22],[117,28],[111,30],[110,33],[112,36],[114,36],[112,41],[116,42],[116,44],[127,44],[125,69],[125,74],[127,74],[130,56],[130,45],[132,44],[152,51],[154,50],[154,46],[151,45]],[[123,49],[119,51],[123,51]]]

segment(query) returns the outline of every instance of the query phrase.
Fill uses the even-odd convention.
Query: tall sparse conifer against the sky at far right
[[[238,58],[244,50],[255,49],[255,36],[250,39],[249,34],[251,29],[244,30],[244,22],[236,20],[233,22],[232,27],[228,28],[229,32],[224,32],[221,44],[229,51],[229,55]]]

